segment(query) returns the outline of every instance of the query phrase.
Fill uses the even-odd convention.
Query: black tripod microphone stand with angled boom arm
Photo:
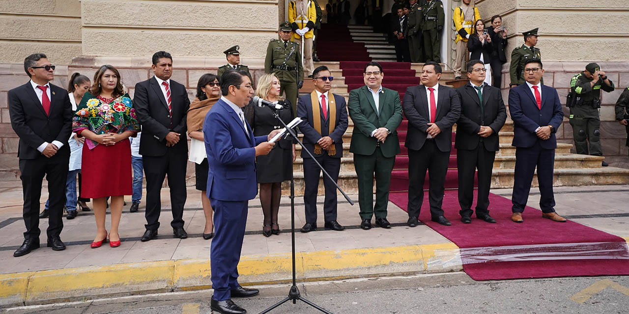
[[[282,124],[282,126],[284,126],[284,128],[286,128],[286,131],[294,138],[296,139],[296,141],[299,143],[299,145],[301,145],[301,148],[306,151],[306,153],[308,153],[308,155],[310,156],[310,158],[312,158],[316,165],[319,166],[319,168],[323,171],[323,174],[325,176],[328,177],[328,179],[330,179],[330,181],[332,183],[334,183],[334,185],[338,188],[338,190],[343,194],[343,197],[345,197],[345,199],[347,200],[348,203],[350,203],[351,205],[354,204],[354,202],[352,201],[352,199],[350,197],[347,196],[347,194],[345,194],[345,192],[338,187],[338,184],[332,180],[330,174],[328,174],[327,171],[325,171],[325,169],[323,169],[323,166],[321,166],[321,164],[319,163],[319,161],[316,160],[315,156],[313,156],[312,153],[310,153],[310,151],[308,151],[308,149],[306,149],[306,147],[304,146],[304,143],[302,143],[299,138],[297,137],[297,134],[295,133],[295,131],[291,128],[289,128],[286,123],[284,123],[284,121],[282,121],[282,119],[279,117],[279,112],[278,109],[275,109],[274,107],[270,107],[273,111],[273,116],[275,116],[277,118],[277,120]],[[292,304],[296,304],[297,300],[303,301],[304,303],[306,303],[309,306],[312,306],[313,308],[316,308],[317,310],[322,311],[323,313],[326,314],[332,314],[330,311],[325,310],[325,308],[322,308],[321,306],[316,305],[315,303],[312,303],[311,301],[308,301],[306,299],[304,299],[301,296],[301,293],[299,293],[299,289],[297,288],[297,279],[296,279],[296,270],[295,270],[295,180],[293,178],[293,174],[292,174],[293,170],[292,170],[292,165],[291,165],[291,246],[292,246],[292,286],[291,286],[291,290],[289,290],[288,292],[288,296],[286,298],[284,298],[284,300],[277,302],[276,304],[270,306],[269,308],[267,308],[264,311],[261,311],[260,314],[265,314],[265,313],[269,313],[269,311],[274,310],[275,308],[277,308],[277,306],[280,306],[284,303],[286,303],[287,301],[292,301]],[[318,179],[317,179],[318,180]]]

